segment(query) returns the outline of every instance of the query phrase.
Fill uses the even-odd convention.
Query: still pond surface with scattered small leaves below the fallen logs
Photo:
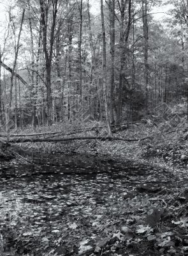
[[[1,214],[28,211],[57,220],[74,216],[83,205],[105,205],[113,193],[133,191],[146,179],[152,186],[163,176],[163,170],[106,156],[37,154],[33,164],[1,164]],[[169,181],[170,177],[164,180]]]

